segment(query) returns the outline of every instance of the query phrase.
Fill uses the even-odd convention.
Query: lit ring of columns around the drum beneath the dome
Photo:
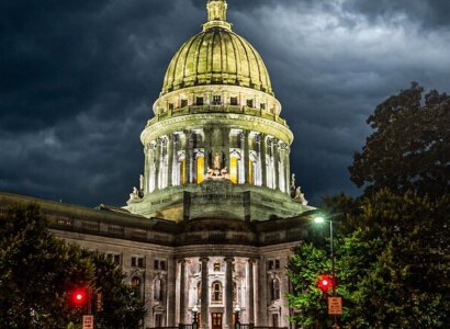
[[[235,184],[290,193],[290,148],[266,134],[226,127],[185,129],[145,146],[144,193],[209,179],[214,161]],[[211,177],[210,177],[211,179]]]

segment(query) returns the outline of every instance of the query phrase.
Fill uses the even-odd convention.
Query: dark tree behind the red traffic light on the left
[[[102,328],[136,328],[145,311],[123,283],[124,275],[104,256],[66,245],[47,230],[36,205],[16,205],[0,216],[0,322],[5,328],[66,328],[79,324],[68,292],[101,288]],[[113,305],[120,311],[112,311]]]

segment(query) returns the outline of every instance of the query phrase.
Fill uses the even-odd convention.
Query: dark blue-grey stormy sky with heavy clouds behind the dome
[[[124,205],[172,55],[206,0],[2,0],[0,191]],[[294,133],[313,205],[358,194],[347,167],[376,104],[412,81],[450,91],[448,0],[228,0]]]

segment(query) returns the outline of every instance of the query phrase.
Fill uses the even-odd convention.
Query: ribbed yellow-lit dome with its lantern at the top
[[[273,94],[261,56],[225,21],[226,2],[211,0],[203,32],[185,42],[167,69],[161,95],[192,86],[232,84]]]

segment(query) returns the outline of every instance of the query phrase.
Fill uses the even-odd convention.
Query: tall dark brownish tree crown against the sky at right
[[[368,118],[373,133],[355,154],[351,180],[365,194],[382,189],[431,197],[450,192],[450,97],[413,82]]]

